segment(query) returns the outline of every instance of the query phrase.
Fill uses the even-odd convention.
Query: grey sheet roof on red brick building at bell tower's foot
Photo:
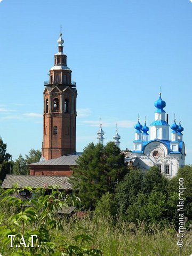
[[[82,153],[75,153],[71,155],[64,155],[58,158],[45,160],[37,163],[31,163],[30,165],[76,165],[76,160]]]

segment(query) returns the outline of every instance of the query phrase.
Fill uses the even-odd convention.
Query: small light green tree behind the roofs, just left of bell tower
[[[39,162],[41,158],[41,151],[31,149],[28,155],[25,155],[25,158],[20,154],[19,157],[15,160],[13,166],[14,174],[27,175],[29,174],[28,164]]]

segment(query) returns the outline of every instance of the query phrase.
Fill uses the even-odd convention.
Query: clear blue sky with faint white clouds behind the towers
[[[60,25],[77,83],[77,151],[105,143],[118,124],[132,149],[134,124],[150,125],[161,86],[169,123],[181,116],[192,163],[192,3],[189,0],[0,1],[0,135],[13,159],[42,146],[44,81]]]

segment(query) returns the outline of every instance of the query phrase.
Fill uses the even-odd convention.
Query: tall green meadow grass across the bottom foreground
[[[114,224],[104,218],[63,220],[63,225],[63,236],[69,243],[74,235],[79,234],[79,228],[93,231],[91,247],[102,250],[104,256],[179,256],[177,232],[173,228],[151,227],[147,232],[143,223],[136,227],[126,222]],[[183,240],[182,256],[192,253],[191,235],[188,231]]]

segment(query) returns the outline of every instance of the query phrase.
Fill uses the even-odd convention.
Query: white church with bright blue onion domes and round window
[[[158,166],[167,178],[172,178],[179,167],[185,165],[185,143],[182,140],[184,129],[181,122],[176,124],[175,119],[171,127],[168,124],[168,114],[164,110],[166,103],[162,100],[161,93],[154,105],[155,120],[150,124],[150,139],[149,127],[146,122],[142,126],[138,119],[134,126],[133,150],[125,159],[129,163],[137,163],[142,169]]]

